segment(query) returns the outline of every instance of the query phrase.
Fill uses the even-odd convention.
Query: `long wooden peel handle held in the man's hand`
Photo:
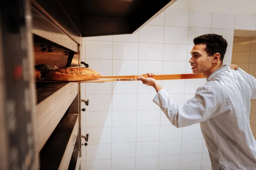
[[[139,75],[142,77],[149,77],[148,75]],[[132,79],[135,80],[139,76],[105,76],[102,79]],[[152,78],[156,80],[170,80],[170,79],[201,79],[205,78],[203,74],[161,74],[154,75]]]

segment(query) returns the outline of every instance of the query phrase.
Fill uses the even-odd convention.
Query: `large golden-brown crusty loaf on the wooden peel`
[[[96,80],[102,77],[99,72],[86,67],[68,67],[50,71],[46,75],[48,80],[56,81],[81,81]]]

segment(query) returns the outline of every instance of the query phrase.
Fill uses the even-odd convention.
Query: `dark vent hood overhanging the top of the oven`
[[[176,0],[34,0],[71,34],[132,34]],[[33,3],[32,3],[33,4]]]

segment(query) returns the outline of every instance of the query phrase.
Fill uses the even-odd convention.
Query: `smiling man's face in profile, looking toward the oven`
[[[192,71],[194,74],[208,74],[212,68],[213,57],[208,57],[205,49],[205,44],[198,44],[194,45],[192,51],[190,52],[191,58],[189,63],[192,66]]]

